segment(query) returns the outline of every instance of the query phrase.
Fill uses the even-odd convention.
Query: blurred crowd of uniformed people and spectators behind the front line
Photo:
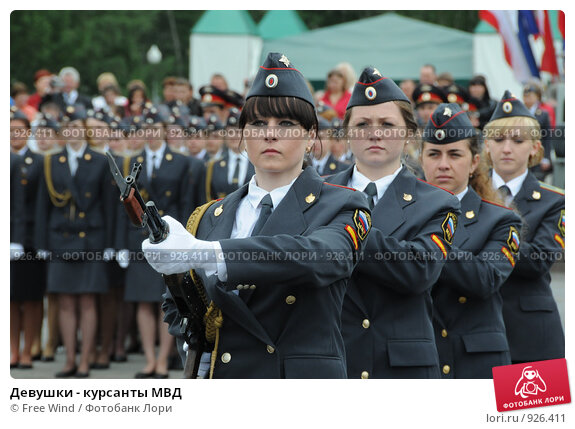
[[[341,63],[329,71],[323,90],[312,90],[319,117],[321,144],[316,144],[309,162],[321,175],[337,173],[353,162],[353,155],[341,130],[351,96],[350,89],[356,80],[353,68]],[[225,76],[219,73],[199,88],[197,94],[188,79],[166,77],[162,82],[162,100],[159,103],[152,102],[148,87],[141,80],[132,80],[122,89],[114,74],[106,72],[98,77],[96,83],[97,96],[82,94],[78,91],[78,71],[73,67],[64,67],[57,74],[38,70],[34,75],[32,94],[23,83],[15,82],[11,86],[11,152],[15,155],[14,159],[11,158],[11,177],[14,181],[11,202],[21,200],[13,202],[11,206],[14,209],[11,211],[11,223],[21,221],[19,225],[14,225],[13,230],[18,232],[11,238],[11,257],[15,267],[11,270],[11,367],[27,369],[32,368],[35,359],[53,360],[61,344],[72,349],[68,350],[72,357],[68,356],[67,359],[73,359],[76,331],[81,331],[80,365],[77,367],[75,360],[72,360],[57,376],[87,376],[90,369],[105,370],[109,368],[110,361],[123,362],[128,353],[143,351],[146,366],[136,377],[163,378],[167,376],[169,368],[180,364],[179,358],[173,340],[161,322],[161,294],[143,296],[135,291],[141,280],[136,280],[137,275],[130,270],[135,271],[137,267],[141,271],[145,261],[134,260],[139,249],[131,244],[130,237],[120,237],[123,234],[121,229],[129,230],[130,226],[117,200],[119,193],[112,176],[108,171],[94,176],[110,186],[102,186],[97,191],[100,194],[91,196],[93,199],[106,200],[108,196],[115,199],[109,205],[104,204],[98,212],[108,218],[109,225],[102,227],[107,231],[102,232],[107,234],[106,240],[102,241],[105,244],[83,247],[102,254],[103,265],[100,267],[105,276],[101,282],[105,284],[82,292],[80,295],[85,299],[79,302],[62,300],[62,295],[68,295],[65,290],[47,287],[47,265],[65,249],[46,248],[49,247],[47,242],[39,241],[41,234],[37,229],[47,213],[43,211],[43,201],[37,195],[44,195],[52,205],[62,204],[65,209],[63,216],[70,225],[80,222],[80,226],[71,227],[70,230],[62,226],[55,233],[65,236],[79,234],[85,238],[86,232],[81,222],[87,222],[83,219],[90,218],[90,213],[85,210],[86,213],[82,215],[80,207],[75,207],[72,199],[58,198],[59,194],[65,193],[64,189],[50,189],[49,175],[55,175],[57,171],[52,169],[50,173],[47,168],[52,161],[56,166],[71,162],[74,151],[81,153],[80,158],[94,161],[92,164],[96,160],[100,162],[100,157],[91,155],[91,151],[96,154],[110,151],[124,175],[130,172],[133,162],[154,165],[145,173],[149,173],[148,183],[141,186],[148,191],[145,197],[154,199],[160,209],[166,210],[166,214],[167,205],[175,202],[179,212],[173,216],[185,224],[195,207],[211,199],[225,197],[247,183],[253,175],[253,166],[240,150],[239,134],[234,132],[238,129],[245,92],[240,94],[229,88]],[[483,76],[473,76],[469,85],[464,87],[457,84],[448,72],[437,74],[430,64],[421,67],[418,82],[403,80],[400,87],[412,101],[420,127],[425,126],[440,103],[454,102],[467,112],[473,126],[481,131],[497,105]],[[541,85],[530,82],[524,86],[522,98],[541,125],[545,149],[543,160],[533,167],[532,172],[539,180],[549,180],[553,171],[552,130],[556,126],[556,117],[553,100],[543,100],[543,95]],[[84,132],[71,135],[71,125],[74,123],[79,123],[79,128]],[[73,139],[76,141],[72,142]],[[73,149],[69,149],[70,145]],[[158,151],[168,162],[153,158],[152,154]],[[417,142],[409,145],[405,163],[421,176],[418,151]],[[49,162],[46,162],[46,156],[50,157]],[[101,159],[104,159],[103,156]],[[76,177],[84,171],[88,172],[88,167],[77,162],[79,165],[76,167],[72,167],[73,163],[70,165],[71,169],[78,169],[71,180],[79,182],[80,179]],[[177,165],[185,167],[176,168]],[[79,188],[83,185],[77,183],[75,186]],[[90,192],[86,191],[86,194]],[[158,201],[159,197],[152,198],[160,194],[161,197],[170,198],[166,206]],[[18,198],[18,195],[22,197]],[[97,214],[94,212],[92,215]],[[53,224],[44,224],[44,227],[56,228]],[[135,242],[145,238],[141,233],[134,234]],[[22,264],[29,260],[35,264],[35,275],[24,279],[20,277],[21,269],[29,269],[30,266]],[[63,273],[58,281],[80,281],[73,276],[66,278],[71,273],[73,271]],[[150,276],[154,274],[157,273],[147,273]],[[161,277],[156,277],[161,282]],[[52,278],[51,281],[56,280]],[[44,318],[47,320],[47,332],[42,333]],[[153,350],[156,343],[160,344],[157,356]]]

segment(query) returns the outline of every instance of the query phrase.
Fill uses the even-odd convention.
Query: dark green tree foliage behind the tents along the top
[[[259,22],[266,11],[250,11]],[[386,11],[298,11],[309,29],[379,15]],[[477,11],[394,11],[404,16],[472,31]],[[81,91],[95,94],[96,78],[113,72],[125,89],[131,79],[151,86],[167,75],[187,75],[190,30],[203,11],[14,11],[10,17],[10,76],[32,88],[34,73],[74,66]],[[171,14],[171,16],[170,16]],[[146,60],[152,44],[163,59]],[[179,49],[178,49],[179,47]]]

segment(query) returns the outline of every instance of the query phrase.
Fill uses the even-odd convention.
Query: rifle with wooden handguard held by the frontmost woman
[[[112,176],[120,189],[120,201],[134,226],[148,228],[150,243],[161,243],[169,233],[168,224],[162,219],[153,201],[144,202],[138,190],[137,180],[142,164],[134,163],[131,173],[122,176],[110,152],[106,152]],[[205,339],[204,315],[207,311],[205,297],[200,296],[190,276],[184,274],[162,275],[181,316],[180,334],[188,344],[184,366],[185,378],[196,378],[200,358],[208,349]]]

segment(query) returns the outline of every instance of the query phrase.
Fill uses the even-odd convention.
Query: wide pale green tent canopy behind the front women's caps
[[[395,80],[418,79],[423,64],[455,79],[473,73],[473,35],[395,13],[323,27],[299,35],[265,40],[262,57],[282,52],[310,81],[323,81],[347,61],[357,73],[369,65]]]

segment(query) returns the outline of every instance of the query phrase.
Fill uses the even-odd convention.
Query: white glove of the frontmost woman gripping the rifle
[[[169,226],[168,237],[158,244],[151,244],[149,239],[142,242],[144,256],[154,270],[162,274],[185,273],[197,268],[217,271],[217,241],[198,240],[174,218],[164,216],[162,219]]]

